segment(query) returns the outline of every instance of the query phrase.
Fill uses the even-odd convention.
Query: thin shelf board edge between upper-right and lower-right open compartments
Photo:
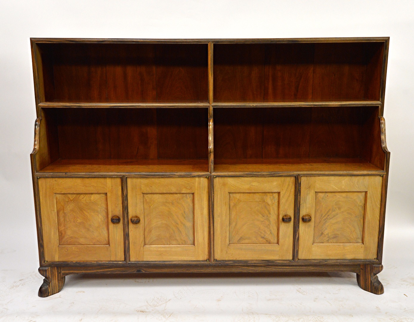
[[[311,107],[311,106],[381,106],[380,101],[332,101],[332,102],[269,102],[269,103],[229,103],[214,102],[213,107]]]

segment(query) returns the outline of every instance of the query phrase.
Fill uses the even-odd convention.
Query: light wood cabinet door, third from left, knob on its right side
[[[214,179],[215,258],[291,260],[294,200],[293,177]]]

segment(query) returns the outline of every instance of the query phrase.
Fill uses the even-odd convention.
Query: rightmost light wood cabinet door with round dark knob
[[[375,259],[382,181],[382,176],[302,177],[298,258]]]

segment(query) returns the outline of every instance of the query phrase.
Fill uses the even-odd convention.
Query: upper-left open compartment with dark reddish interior
[[[207,103],[207,43],[40,43],[44,102]],[[39,64],[39,57],[37,58]],[[38,65],[39,66],[39,65]],[[40,67],[39,66],[39,67]]]

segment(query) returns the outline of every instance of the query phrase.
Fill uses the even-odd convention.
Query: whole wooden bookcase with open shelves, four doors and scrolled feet
[[[389,38],[32,38],[39,296],[83,272],[383,293]]]

